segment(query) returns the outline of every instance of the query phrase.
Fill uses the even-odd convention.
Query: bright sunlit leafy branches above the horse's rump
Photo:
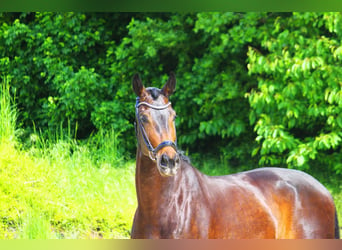
[[[248,94],[260,164],[342,171],[339,13],[276,18],[261,48],[250,46]]]

